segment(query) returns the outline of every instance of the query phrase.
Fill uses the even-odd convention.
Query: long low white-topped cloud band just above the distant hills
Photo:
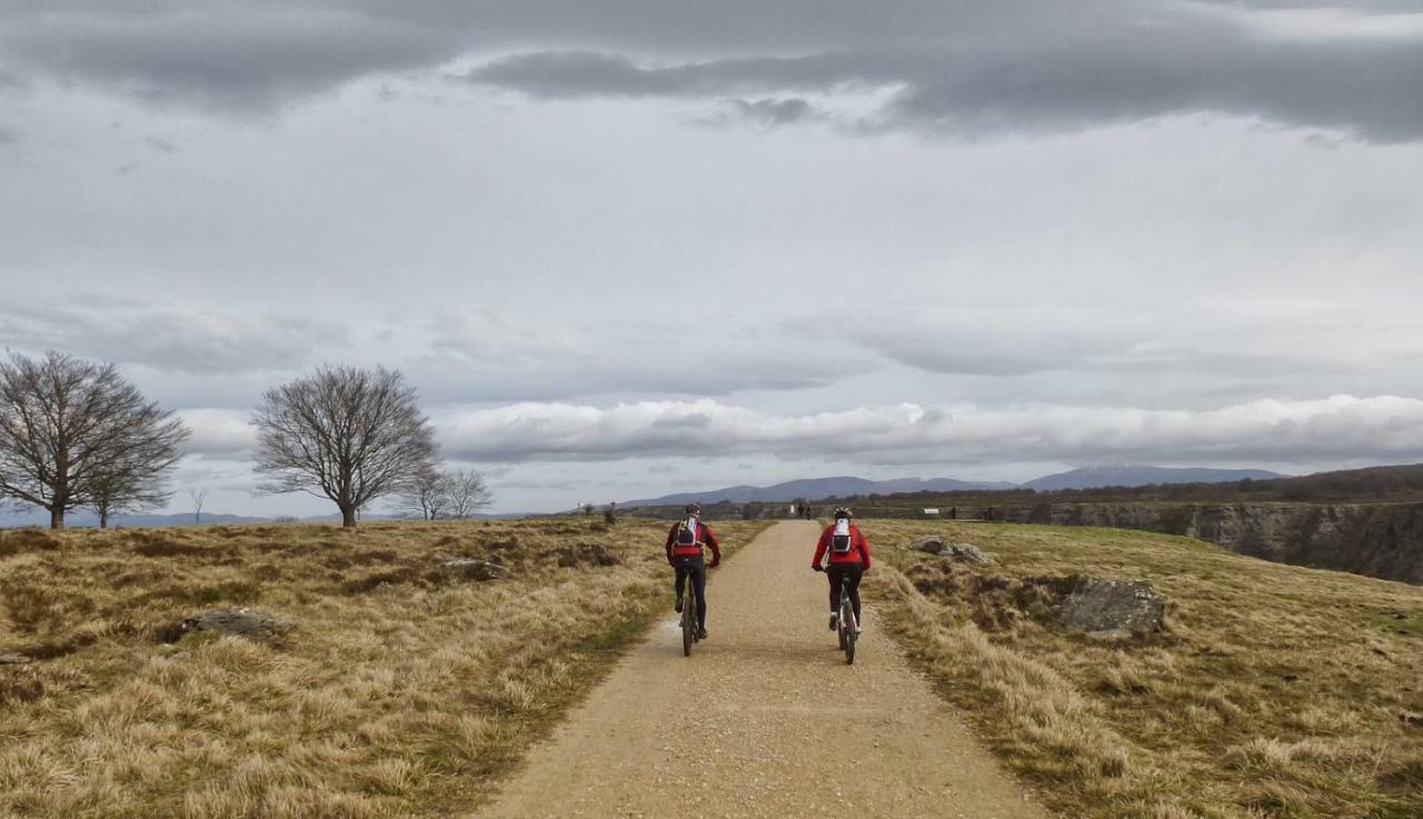
[[[703,417],[693,428],[665,421]],[[1311,462],[1423,455],[1423,401],[1335,395],[1205,411],[1025,405],[862,407],[776,415],[714,401],[608,410],[525,404],[437,417],[447,452],[471,461],[616,461],[639,456],[815,452],[865,464],[949,461]]]

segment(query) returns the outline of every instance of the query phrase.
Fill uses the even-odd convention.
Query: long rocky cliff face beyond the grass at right
[[[1423,584],[1419,503],[1036,503],[995,506],[993,518],[1184,535],[1276,563]]]

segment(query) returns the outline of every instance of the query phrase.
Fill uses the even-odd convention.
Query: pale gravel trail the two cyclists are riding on
[[[669,582],[666,619],[480,816],[1046,818],[872,611],[845,665],[818,530],[778,523],[712,572],[690,658]]]

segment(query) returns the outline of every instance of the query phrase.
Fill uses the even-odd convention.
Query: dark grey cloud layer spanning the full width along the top
[[[889,98],[857,129],[1080,129],[1258,117],[1423,136],[1416,4],[573,0],[0,4],[0,60],[157,100],[272,107],[380,71],[504,53],[468,77],[544,98],[734,100],[763,125],[805,92]],[[1412,13],[1412,16],[1409,16]],[[1385,16],[1389,14],[1389,16]]]

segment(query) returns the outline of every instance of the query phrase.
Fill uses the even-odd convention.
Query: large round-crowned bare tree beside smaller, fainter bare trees
[[[313,375],[268,390],[252,417],[258,428],[260,489],[330,498],[342,525],[400,492],[434,461],[430,419],[400,373],[323,365]]]

